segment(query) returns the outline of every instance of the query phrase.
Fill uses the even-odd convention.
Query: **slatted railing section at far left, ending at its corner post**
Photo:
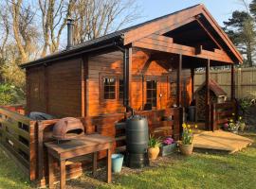
[[[7,148],[30,180],[35,180],[36,121],[0,108],[0,143]]]

